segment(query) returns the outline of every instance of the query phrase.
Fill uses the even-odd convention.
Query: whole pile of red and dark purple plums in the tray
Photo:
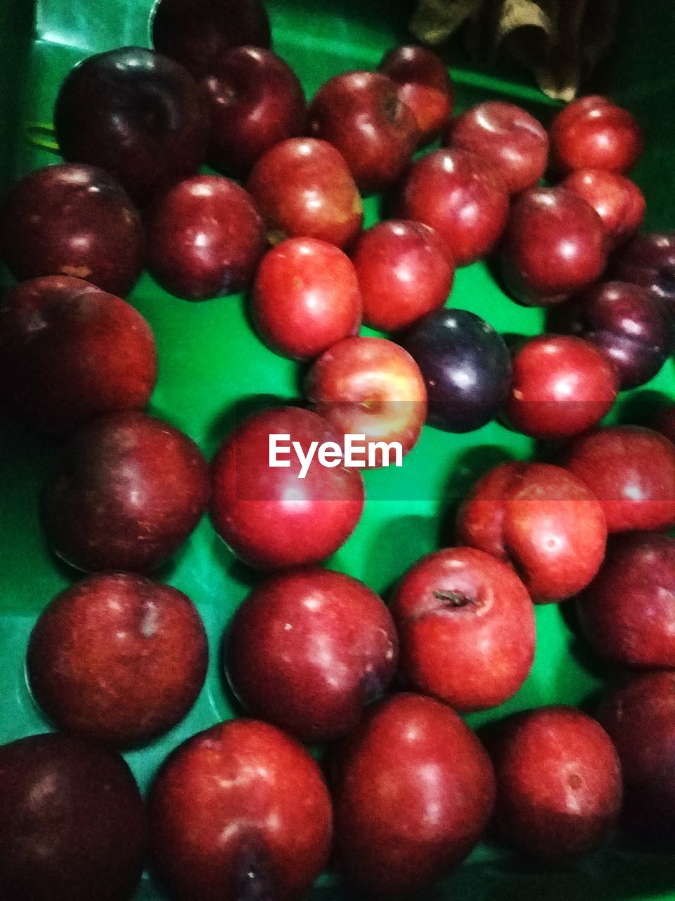
[[[65,161],[0,214],[18,282],[2,402],[67,439],[40,523],[83,574],[26,653],[58,732],[0,747],[0,896],[128,901],[149,863],[176,901],[293,901],[329,860],[357,891],[414,896],[488,829],[551,864],[619,822],[672,837],[675,405],[651,429],[599,424],[673,350],[675,233],[637,234],[635,119],[601,96],[548,131],[503,101],[453,117],[445,63],[413,46],[307,104],[260,0],[160,0],[152,37],[67,75]],[[371,192],[392,218],[363,230]],[[509,348],[446,305],[455,268],[489,254],[549,332]],[[157,348],[122,299],[144,265],[185,299],[247,291],[260,339],[307,366],[302,401],[249,415],[211,464],[145,412]],[[392,464],[384,445],[495,417],[552,443],[482,475],[455,546],[386,605],[321,566],[361,517],[360,468]],[[180,723],[209,663],[193,601],[153,574],[207,510],[264,574],[222,636],[245,716],[180,744],[144,802],[120,752]],[[536,605],[571,598],[590,648],[634,675],[596,717],[545,706],[480,740],[460,714],[516,695]],[[333,742],[323,769],[303,742]]]

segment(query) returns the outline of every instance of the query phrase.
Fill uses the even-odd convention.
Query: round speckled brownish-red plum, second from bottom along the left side
[[[32,696],[61,729],[129,748],[183,719],[208,659],[189,597],[130,573],[100,573],[42,611],[26,673]]]

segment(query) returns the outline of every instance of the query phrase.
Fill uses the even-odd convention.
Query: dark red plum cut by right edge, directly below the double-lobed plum
[[[675,539],[628,532],[608,544],[577,601],[581,631],[600,656],[626,666],[675,667]]]

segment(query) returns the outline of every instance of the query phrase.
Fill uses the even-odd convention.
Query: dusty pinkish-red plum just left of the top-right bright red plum
[[[521,106],[488,100],[449,124],[444,143],[471,150],[497,169],[510,194],[533,187],[544,175],[548,134]]]

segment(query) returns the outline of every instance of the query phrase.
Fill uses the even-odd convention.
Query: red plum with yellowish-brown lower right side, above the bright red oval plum
[[[319,238],[345,248],[361,231],[363,203],[345,158],[328,141],[289,138],[257,160],[247,189],[267,238]]]

